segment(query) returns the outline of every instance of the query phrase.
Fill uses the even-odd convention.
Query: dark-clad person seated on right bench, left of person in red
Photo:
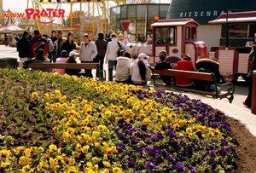
[[[154,68],[157,70],[163,70],[163,69],[172,69],[172,66],[170,62],[166,61],[167,52],[166,50],[161,50],[159,53],[160,61],[156,62]],[[160,78],[162,78],[163,82],[166,85],[172,86],[172,77],[160,75]]]

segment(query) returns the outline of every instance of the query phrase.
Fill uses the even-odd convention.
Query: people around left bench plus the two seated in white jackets
[[[83,35],[79,51],[77,51],[74,43],[74,33],[68,32],[67,38],[62,36],[61,31],[52,31],[51,36],[41,34],[38,30],[32,33],[26,31],[18,40],[17,51],[20,61],[26,65],[30,62],[47,61],[53,63],[77,63],[77,57],[81,63],[100,63],[99,70],[96,71],[96,77],[100,76],[103,70],[103,63],[108,64],[108,81],[113,81],[113,71],[115,70],[115,81],[125,84],[147,84],[147,80],[151,78],[151,70],[148,61],[148,55],[140,54],[137,60],[132,61],[131,55],[125,51],[122,56],[118,57],[119,48],[127,49],[126,45],[119,41],[116,33],[111,33],[111,41],[104,39],[102,32],[98,33],[96,42],[91,42],[88,34]],[[27,61],[29,60],[29,61]],[[39,69],[49,72],[42,66]],[[84,75],[93,78],[92,70],[85,69],[81,73],[78,69],[55,69],[60,74]]]

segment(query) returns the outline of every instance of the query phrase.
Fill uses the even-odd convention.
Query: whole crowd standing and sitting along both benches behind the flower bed
[[[108,64],[108,81],[124,84],[145,85],[151,78],[151,67],[147,61],[148,55],[141,53],[135,59],[131,54],[124,51],[119,56],[119,49],[127,49],[126,45],[121,42],[117,33],[111,33],[108,41],[105,40],[102,32],[98,33],[96,42],[90,41],[88,34],[83,35],[83,42],[77,50],[74,43],[75,34],[67,33],[67,38],[63,37],[61,31],[52,31],[51,35],[41,34],[38,30],[34,31],[33,36],[29,32],[24,32],[23,36],[17,42],[20,61],[31,59],[32,61],[49,61],[53,63],[77,63],[79,58],[81,63],[98,62],[99,69],[96,71],[96,78],[102,76],[103,63]],[[42,55],[43,54],[43,55]],[[171,64],[166,61],[167,52],[161,50],[159,53],[160,61],[156,62],[155,69],[172,69]],[[41,57],[41,58],[40,58]],[[183,55],[182,61],[177,61],[177,70],[198,71],[202,69],[216,73],[217,82],[220,81],[218,72],[218,62],[214,59],[204,59],[193,65],[191,57],[188,54]],[[45,69],[44,71],[48,71]],[[91,69],[84,69],[84,73],[79,69],[55,69],[56,72],[69,75],[85,76],[93,78]],[[115,71],[115,76],[113,76]],[[193,81],[189,78],[172,78],[161,75],[160,78],[166,85],[177,85],[179,87],[196,87],[201,86],[201,81]],[[195,84],[194,84],[195,83]],[[212,89],[211,84],[207,89]]]

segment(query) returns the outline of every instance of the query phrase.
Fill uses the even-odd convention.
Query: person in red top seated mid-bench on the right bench
[[[195,66],[193,65],[193,62],[191,62],[191,57],[189,54],[183,55],[182,61],[177,61],[177,66],[175,66],[175,69],[195,72]],[[192,87],[194,81],[190,78],[175,77],[175,83],[179,87]]]

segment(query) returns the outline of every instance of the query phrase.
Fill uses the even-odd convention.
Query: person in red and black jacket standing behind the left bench
[[[29,44],[29,49],[31,51],[32,57],[36,57],[38,49],[44,49],[44,56],[47,55],[49,48],[47,40],[42,37],[38,30],[34,31],[34,37]]]

